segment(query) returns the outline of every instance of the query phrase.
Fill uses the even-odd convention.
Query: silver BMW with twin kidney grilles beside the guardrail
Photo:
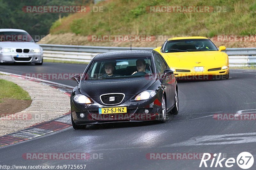
[[[21,29],[0,29],[0,63],[43,64],[43,49]]]

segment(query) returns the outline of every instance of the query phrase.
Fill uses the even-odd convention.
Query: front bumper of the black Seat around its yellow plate
[[[73,101],[71,96],[71,114],[77,125],[89,125],[106,122],[141,122],[162,119],[161,99],[157,94],[149,100],[127,100],[120,105],[104,106],[99,103],[91,105],[79,104]],[[127,113],[99,114],[99,108],[104,107],[127,107]],[[84,118],[80,117],[83,113]]]

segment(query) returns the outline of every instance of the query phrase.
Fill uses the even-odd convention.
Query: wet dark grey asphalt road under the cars
[[[0,65],[0,71],[16,74],[82,73],[85,67],[82,64],[62,63],[44,63],[42,66]],[[72,80],[50,81],[76,85]],[[214,114],[256,112],[251,110],[256,109],[255,85],[256,70],[231,70],[229,80],[178,82],[180,111],[178,115],[170,115],[165,123],[126,122],[91,125],[81,130],[66,128],[0,148],[0,165],[86,165],[85,169],[209,169],[204,166],[199,168],[201,159],[197,158],[153,160],[148,155],[208,152],[224,153],[227,158],[236,159],[240,152],[250,152],[256,159],[255,120],[214,118]],[[92,159],[28,160],[22,158],[24,153],[89,153]],[[103,159],[96,159],[97,155]],[[211,160],[207,161],[207,165],[210,164]],[[225,162],[222,165],[224,167],[218,166],[218,169],[228,169]],[[234,163],[229,169],[240,167]],[[256,162],[251,169],[256,169]]]

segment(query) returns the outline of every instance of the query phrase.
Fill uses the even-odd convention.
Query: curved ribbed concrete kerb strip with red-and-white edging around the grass
[[[1,71],[0,73],[9,75],[0,75],[0,79],[19,85],[32,99],[31,105],[25,110],[1,116],[0,147],[43,136],[72,125],[70,120],[72,86]]]

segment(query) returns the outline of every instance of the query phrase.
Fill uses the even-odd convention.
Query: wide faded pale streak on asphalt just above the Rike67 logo
[[[216,145],[216,144],[244,144],[256,142],[256,133],[235,133],[225,135],[208,135],[192,137],[187,141],[165,145],[171,146],[197,146],[197,145]]]

